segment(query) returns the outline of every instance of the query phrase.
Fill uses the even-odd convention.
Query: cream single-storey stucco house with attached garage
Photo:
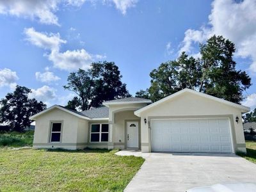
[[[34,148],[131,148],[142,152],[246,152],[242,113],[250,108],[188,88],[151,103],[129,97],[31,116]]]

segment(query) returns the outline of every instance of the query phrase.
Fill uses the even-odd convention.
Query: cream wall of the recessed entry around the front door
[[[126,126],[127,121],[140,121],[140,117],[134,115],[134,111],[120,111],[115,113],[114,121],[114,147],[124,149],[126,148]],[[139,125],[140,127],[140,125]],[[139,137],[140,138],[140,137]],[[140,144],[140,141],[139,141]]]

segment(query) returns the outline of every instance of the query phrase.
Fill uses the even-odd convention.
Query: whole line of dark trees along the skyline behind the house
[[[190,88],[240,104],[244,99],[244,90],[250,88],[252,83],[246,72],[236,69],[233,59],[235,45],[223,36],[214,35],[199,48],[199,58],[182,52],[176,60],[161,63],[149,74],[150,87],[136,92],[135,97],[156,102]],[[68,100],[65,107],[83,111],[102,106],[106,100],[131,97],[121,79],[118,67],[108,61],[92,63],[88,70],[79,68],[71,72],[63,88],[77,96]],[[8,124],[14,131],[22,131],[31,124],[29,116],[44,110],[46,105],[42,101],[29,99],[30,92],[29,88],[17,86],[13,93],[1,99],[0,123]]]

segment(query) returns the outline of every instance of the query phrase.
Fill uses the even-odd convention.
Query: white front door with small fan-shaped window
[[[127,148],[139,147],[139,124],[127,122]]]

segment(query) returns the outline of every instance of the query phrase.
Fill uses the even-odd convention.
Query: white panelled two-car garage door
[[[151,130],[154,152],[233,152],[228,118],[152,120]]]

